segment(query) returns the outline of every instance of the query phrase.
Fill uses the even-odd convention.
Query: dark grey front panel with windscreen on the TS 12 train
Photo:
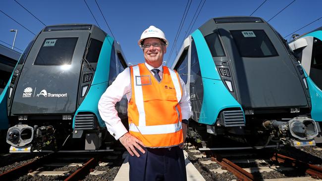
[[[244,108],[307,106],[295,66],[268,24],[216,25],[232,65],[238,101]]]

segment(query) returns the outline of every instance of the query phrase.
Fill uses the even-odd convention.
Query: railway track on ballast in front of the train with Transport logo
[[[115,154],[116,153],[116,154]],[[113,180],[122,160],[117,160],[121,151],[97,154],[50,153],[0,174],[0,181],[11,180],[92,180],[102,175],[104,180]],[[106,171],[104,171],[106,170]],[[109,173],[107,173],[109,171]],[[104,175],[105,174],[105,175]],[[104,176],[103,176],[104,175]]]

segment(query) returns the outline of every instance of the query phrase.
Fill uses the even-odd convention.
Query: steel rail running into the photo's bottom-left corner
[[[23,174],[27,174],[30,170],[35,169],[46,162],[49,162],[54,158],[54,156],[55,156],[55,153],[50,153],[48,155],[38,158],[37,160],[28,162],[19,167],[8,170],[0,174],[0,181],[9,181]]]

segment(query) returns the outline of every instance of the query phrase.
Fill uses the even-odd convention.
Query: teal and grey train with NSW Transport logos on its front
[[[107,148],[98,101],[126,67],[119,43],[99,27],[46,26],[27,45],[1,94],[9,152]],[[125,98],[116,109],[126,119]]]

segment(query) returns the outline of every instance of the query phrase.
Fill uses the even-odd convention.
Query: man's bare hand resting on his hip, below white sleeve
[[[127,149],[131,156],[134,156],[135,154],[137,157],[140,157],[140,154],[136,151],[135,148],[140,150],[143,154],[145,153],[144,149],[140,146],[140,144],[144,146],[143,142],[129,133],[121,136],[119,138],[119,141],[123,144],[123,146]]]

